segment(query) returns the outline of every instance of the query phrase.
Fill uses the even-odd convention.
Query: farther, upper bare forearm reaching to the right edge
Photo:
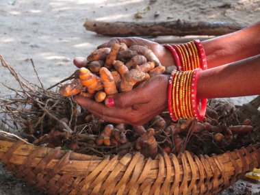
[[[260,22],[224,36],[203,41],[208,68],[221,66],[260,53]]]

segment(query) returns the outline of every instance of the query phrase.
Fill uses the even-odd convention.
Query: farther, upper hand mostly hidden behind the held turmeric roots
[[[172,53],[165,47],[161,46],[161,44],[157,42],[153,42],[151,40],[146,40],[143,38],[137,37],[129,37],[129,38],[112,38],[108,42],[99,45],[98,49],[102,47],[112,47],[115,43],[125,42],[127,47],[131,47],[132,45],[142,45],[147,46],[155,55],[158,57],[159,62],[161,62],[162,66],[173,66],[174,60],[172,57]],[[85,57],[76,57],[74,59],[74,64],[78,67],[84,67],[87,65],[87,59]]]

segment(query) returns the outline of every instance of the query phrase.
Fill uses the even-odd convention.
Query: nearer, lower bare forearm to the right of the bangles
[[[204,70],[198,76],[199,99],[260,94],[260,55]]]

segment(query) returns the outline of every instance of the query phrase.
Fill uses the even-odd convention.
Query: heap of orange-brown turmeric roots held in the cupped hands
[[[112,48],[96,49],[88,55],[86,67],[76,70],[75,79],[60,88],[60,95],[79,94],[102,102],[106,96],[128,92],[165,70],[151,49],[116,43]]]

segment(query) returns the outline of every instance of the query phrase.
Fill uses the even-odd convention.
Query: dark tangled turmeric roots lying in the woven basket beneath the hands
[[[62,118],[68,124],[68,118]],[[140,152],[154,158],[158,153],[178,154],[185,150],[196,155],[220,154],[251,144],[250,120],[239,122],[235,107],[209,101],[203,121],[170,120],[168,112],[155,116],[143,126],[109,124],[93,114],[77,118],[74,132],[64,131],[62,123],[33,141],[49,147],[61,146],[88,155],[125,155]]]

